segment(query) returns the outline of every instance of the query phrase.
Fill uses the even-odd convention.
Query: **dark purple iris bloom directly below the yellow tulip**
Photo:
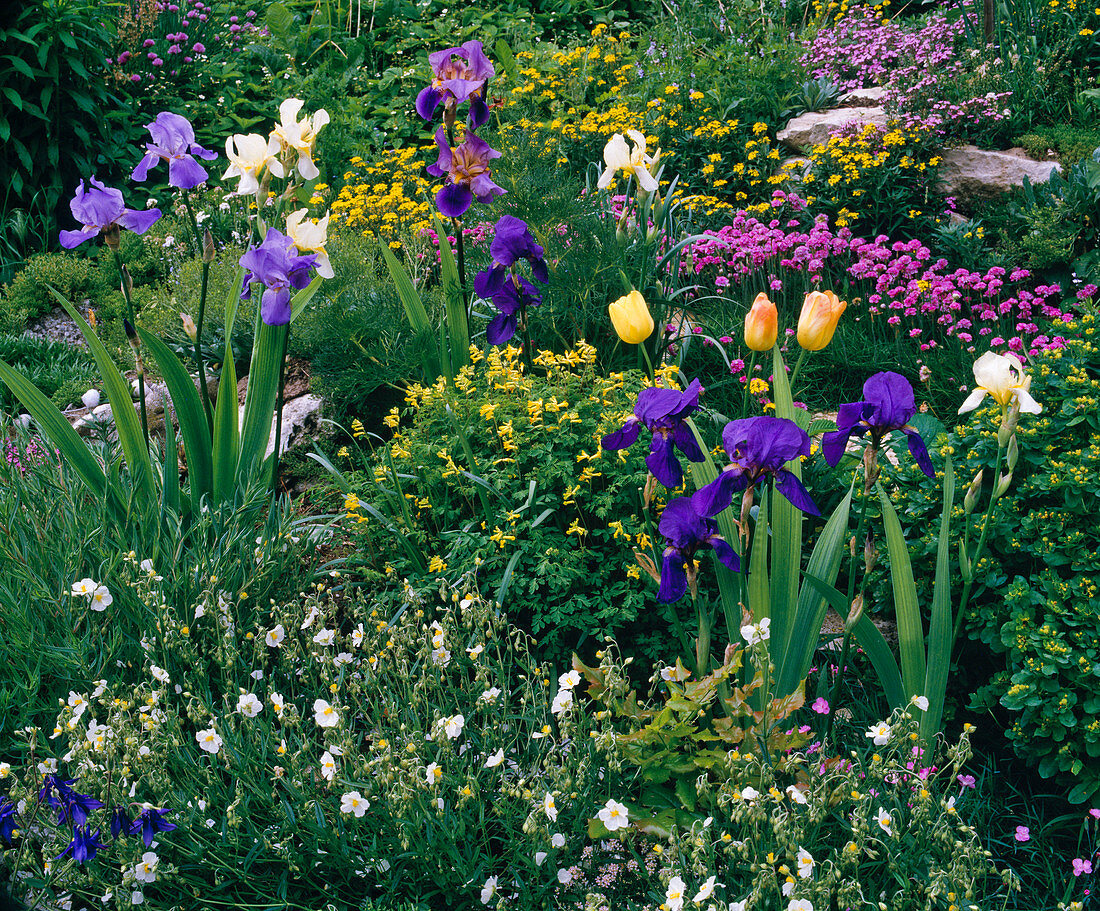
[[[618,430],[604,437],[601,446],[604,449],[626,449],[646,427],[653,435],[646,457],[647,468],[669,490],[679,487],[684,473],[674,450],[679,448],[692,462],[702,462],[705,458],[691,427],[684,424],[684,418],[698,409],[702,391],[698,380],[692,380],[683,392],[656,387],[642,389],[634,406],[634,417],[627,418]]]

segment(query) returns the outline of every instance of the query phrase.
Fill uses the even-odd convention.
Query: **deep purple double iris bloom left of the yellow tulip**
[[[502,216],[496,222],[496,234],[490,245],[493,265],[474,276],[474,290],[480,297],[492,300],[501,311],[485,329],[490,344],[504,344],[516,334],[519,316],[527,307],[537,307],[542,297],[521,275],[509,272],[519,260],[531,265],[531,277],[537,282],[550,281],[542,248],[527,227],[527,222],[515,216]]]

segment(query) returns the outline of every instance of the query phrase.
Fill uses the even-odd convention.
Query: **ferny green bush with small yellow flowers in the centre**
[[[361,522],[349,530],[365,564],[388,566],[397,580],[477,567],[543,654],[606,633],[647,650],[653,602],[629,549],[651,546],[640,462],[597,454],[638,378],[601,377],[587,345],[543,353],[532,374],[517,355],[492,349],[463,369],[457,391],[409,389],[407,422],[352,479],[348,508]],[[377,513],[360,513],[359,497]]]

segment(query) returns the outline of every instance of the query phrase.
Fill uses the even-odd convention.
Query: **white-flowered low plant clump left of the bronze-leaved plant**
[[[254,562],[249,544],[234,547]],[[265,570],[272,550],[277,540],[257,548]],[[108,805],[133,788],[173,808],[178,827],[157,838],[155,883],[123,886],[147,850],[127,838],[47,887],[32,879],[29,898],[98,901],[122,888],[129,900],[141,888],[157,907],[186,905],[215,877],[231,907],[443,911],[483,908],[497,877],[519,907],[561,907],[558,871],[580,859],[583,822],[616,779],[596,761],[587,717],[550,713],[552,669],[473,591],[383,605],[316,585],[261,602],[202,575],[190,602],[162,604],[158,577],[134,567],[125,579],[156,618],[147,651],[133,646],[132,667],[105,674],[98,694],[77,688],[88,705],[75,731],[65,706],[63,738],[31,739],[36,758],[72,750],[80,787]],[[98,748],[92,717],[112,732]],[[218,738],[212,753],[204,732]],[[16,776],[6,790],[22,798],[35,776]],[[69,835],[42,825],[31,837],[54,856]],[[36,854],[24,859],[41,874]]]

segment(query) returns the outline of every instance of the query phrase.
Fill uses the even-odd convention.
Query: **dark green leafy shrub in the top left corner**
[[[47,217],[45,237],[77,180],[108,184],[140,132],[108,89],[110,17],[95,0],[19,4],[0,29],[0,223],[14,209]]]

